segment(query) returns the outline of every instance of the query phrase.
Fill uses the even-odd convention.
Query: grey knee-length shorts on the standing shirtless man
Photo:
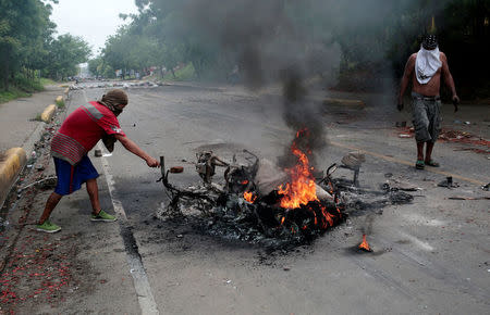
[[[436,142],[441,131],[441,100],[412,93],[413,123],[417,142]]]

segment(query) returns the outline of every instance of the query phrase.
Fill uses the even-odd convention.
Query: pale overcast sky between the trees
[[[94,55],[107,37],[124,24],[120,13],[137,13],[134,0],[59,0],[51,5],[51,20],[58,25],[58,35],[82,36],[91,46]]]

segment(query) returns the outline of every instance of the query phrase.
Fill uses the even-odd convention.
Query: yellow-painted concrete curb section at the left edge
[[[15,182],[17,175],[27,163],[27,155],[22,148],[7,150],[4,159],[0,161],[0,207]]]

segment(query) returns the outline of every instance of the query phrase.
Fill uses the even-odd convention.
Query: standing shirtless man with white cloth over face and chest
[[[439,167],[439,163],[431,159],[433,144],[441,130],[441,74],[445,84],[451,89],[454,111],[457,111],[460,98],[456,94],[453,76],[448,66],[448,59],[439,51],[434,35],[424,38],[420,50],[412,54],[405,65],[399,94],[399,111],[403,110],[403,94],[412,79],[413,122],[415,140],[417,141],[417,162],[415,167],[424,169],[425,165]],[[426,156],[424,158],[424,144]]]

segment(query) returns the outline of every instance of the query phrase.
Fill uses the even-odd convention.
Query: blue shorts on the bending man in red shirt
[[[99,173],[91,165],[90,159],[84,155],[76,165],[71,165],[66,161],[54,159],[58,184],[54,192],[58,194],[70,194],[82,188],[82,184],[88,179],[99,177]]]

